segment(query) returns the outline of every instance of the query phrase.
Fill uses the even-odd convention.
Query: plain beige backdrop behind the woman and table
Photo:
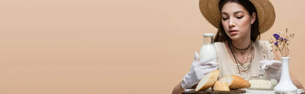
[[[289,28],[290,72],[304,85],[305,1],[271,0]],[[0,2],[0,93],[171,93],[203,33],[198,0]]]

